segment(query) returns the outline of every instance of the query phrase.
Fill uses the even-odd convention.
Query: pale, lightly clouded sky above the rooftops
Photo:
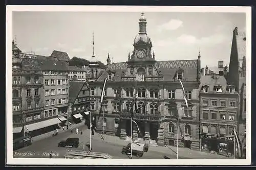
[[[139,32],[141,12],[13,12],[13,38],[23,52],[54,50],[90,59],[126,62]],[[201,67],[229,64],[232,31],[246,30],[245,13],[145,12],[156,60],[197,59]]]

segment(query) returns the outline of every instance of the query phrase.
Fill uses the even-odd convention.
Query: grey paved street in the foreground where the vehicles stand
[[[13,151],[13,158],[49,158],[50,152],[52,152],[52,158],[63,158],[67,151],[83,150],[83,143],[86,144],[90,141],[90,130],[87,129],[86,126],[81,126],[79,130],[83,131],[82,135],[80,133],[76,134],[75,130],[73,130],[73,133],[71,133],[70,130],[67,130],[66,132],[59,133],[59,135],[57,136],[50,136],[48,138],[35,141],[32,143],[32,145],[29,145],[28,147]],[[108,135],[102,136],[108,139],[115,138]],[[58,147],[58,142],[60,142],[61,140],[66,140],[69,137],[79,138],[80,145],[78,148]],[[121,153],[122,147],[125,146],[126,143],[128,143],[127,141],[122,141],[120,143],[109,142],[106,139],[102,140],[101,136],[98,133],[94,133],[94,135],[92,135],[91,143],[93,152],[108,153],[113,157],[113,159],[130,159],[129,156],[123,155]],[[132,159],[164,159],[164,156],[170,159],[177,159],[177,155],[167,147],[158,147],[159,151],[152,150],[152,148],[153,147],[150,147],[148,152],[145,152],[141,158],[133,156]],[[166,153],[160,152],[160,149],[165,149]],[[84,146],[84,150],[88,151],[88,148]],[[202,156],[203,154],[205,153],[202,153]],[[179,159],[196,159],[194,157],[190,157],[192,155],[186,155],[186,157],[179,156]],[[212,159],[218,158],[223,159],[225,157],[213,157]]]

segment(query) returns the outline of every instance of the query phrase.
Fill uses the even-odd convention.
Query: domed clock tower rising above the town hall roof
[[[139,19],[139,34],[134,39],[134,50],[131,57],[128,59],[128,63],[132,62],[135,64],[134,62],[155,61],[151,51],[152,42],[146,33],[146,23],[146,17],[142,12]]]

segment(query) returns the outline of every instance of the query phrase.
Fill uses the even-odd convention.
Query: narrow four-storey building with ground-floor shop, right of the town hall
[[[234,130],[238,130],[239,94],[224,76],[201,77],[200,142],[202,151],[226,150],[233,154]]]

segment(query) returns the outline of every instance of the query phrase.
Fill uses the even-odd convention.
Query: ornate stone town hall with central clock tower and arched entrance
[[[199,82],[200,56],[195,60],[156,61],[151,51],[152,41],[146,33],[146,18],[139,19],[139,34],[134,39],[134,51],[127,62],[110,63],[108,68],[90,83],[91,112],[99,117],[97,129],[125,139],[144,138],[158,145],[177,144],[199,149]],[[102,83],[108,78],[103,103],[99,103]],[[186,107],[181,79],[189,106]],[[136,109],[137,108],[137,109]],[[133,119],[138,124],[132,125]],[[177,134],[177,113],[180,129]]]

